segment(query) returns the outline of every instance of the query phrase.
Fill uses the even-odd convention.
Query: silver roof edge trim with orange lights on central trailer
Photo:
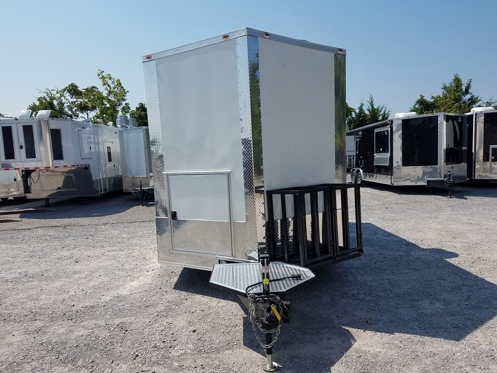
[[[211,37],[211,38],[208,38],[208,39],[205,39],[202,41],[198,41],[195,43],[186,44],[186,45],[183,45],[181,47],[167,49],[165,51],[161,51],[161,52],[152,53],[152,54],[142,56],[142,62],[154,61],[158,58],[171,56],[171,55],[174,55],[177,53],[186,52],[186,51],[200,48],[200,47],[210,45],[210,44],[221,43],[225,40],[230,40],[230,39],[241,37],[241,36],[256,36],[256,37],[270,39],[270,40],[274,40],[274,41],[279,41],[279,42],[283,42],[283,43],[287,43],[287,44],[299,45],[299,46],[305,47],[305,48],[311,48],[311,49],[322,50],[325,52],[331,52],[331,53],[338,54],[338,55],[343,55],[343,56],[346,55],[346,50],[342,49],[342,48],[336,48],[336,47],[330,47],[328,45],[311,43],[307,40],[293,39],[293,38],[286,37],[286,36],[271,34],[269,32],[244,27],[244,28],[232,31],[232,32],[228,32],[226,34],[214,36],[214,37]]]

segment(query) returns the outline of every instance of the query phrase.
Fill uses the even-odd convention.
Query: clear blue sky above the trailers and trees
[[[16,116],[38,90],[121,79],[145,101],[141,56],[242,27],[344,48],[347,102],[371,93],[408,111],[458,73],[497,99],[497,1],[2,1],[0,113]]]

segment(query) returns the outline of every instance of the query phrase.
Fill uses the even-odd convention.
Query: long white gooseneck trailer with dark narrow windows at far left
[[[19,171],[27,198],[121,189],[119,130],[48,115],[0,119],[0,172]]]

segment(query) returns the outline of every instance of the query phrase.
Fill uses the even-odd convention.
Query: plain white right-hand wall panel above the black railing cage
[[[259,38],[259,73],[264,188],[334,183],[333,53]]]

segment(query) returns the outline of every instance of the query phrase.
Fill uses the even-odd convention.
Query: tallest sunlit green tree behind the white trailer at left
[[[91,120],[95,123],[116,126],[117,115],[129,114],[131,107],[126,102],[128,91],[123,87],[120,79],[113,78],[98,70],[96,76],[100,79],[104,92],[91,93],[92,102],[96,105],[95,115]]]

